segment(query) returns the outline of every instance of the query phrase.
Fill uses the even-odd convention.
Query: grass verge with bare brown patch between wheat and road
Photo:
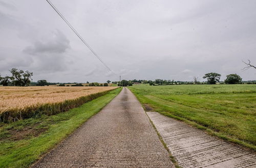
[[[29,167],[108,104],[121,88],[64,113],[0,123],[0,167]]]

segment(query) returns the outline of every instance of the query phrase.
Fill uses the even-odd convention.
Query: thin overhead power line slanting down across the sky
[[[46,0],[50,6],[58,13],[58,15],[68,24],[68,26],[70,27],[70,29],[76,34],[76,36],[84,43],[86,44],[86,46],[92,51],[92,53],[98,58],[98,60],[111,72],[113,72],[104,62],[103,60],[99,57],[99,55],[89,46],[89,44],[87,44],[87,42],[85,40],[83,40],[83,38],[79,35],[79,33],[77,33],[77,31],[74,29],[74,27],[69,23],[69,21],[58,11],[58,9],[52,4],[52,2],[50,0]]]

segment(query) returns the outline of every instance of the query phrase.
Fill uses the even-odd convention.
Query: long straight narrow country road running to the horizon
[[[141,104],[120,94],[33,167],[174,167]]]

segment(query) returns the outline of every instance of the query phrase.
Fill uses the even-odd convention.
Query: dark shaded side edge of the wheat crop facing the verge
[[[10,109],[0,114],[0,122],[12,122],[22,119],[28,119],[40,115],[55,115],[63,111],[78,107],[83,103],[91,101],[97,97],[103,96],[109,91],[98,92],[87,96],[82,96],[72,100],[65,100],[58,103],[46,103],[34,106],[24,107],[23,109]]]

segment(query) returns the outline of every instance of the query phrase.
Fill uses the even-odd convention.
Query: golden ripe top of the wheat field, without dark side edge
[[[0,87],[0,114],[14,109],[59,103],[117,87]]]

